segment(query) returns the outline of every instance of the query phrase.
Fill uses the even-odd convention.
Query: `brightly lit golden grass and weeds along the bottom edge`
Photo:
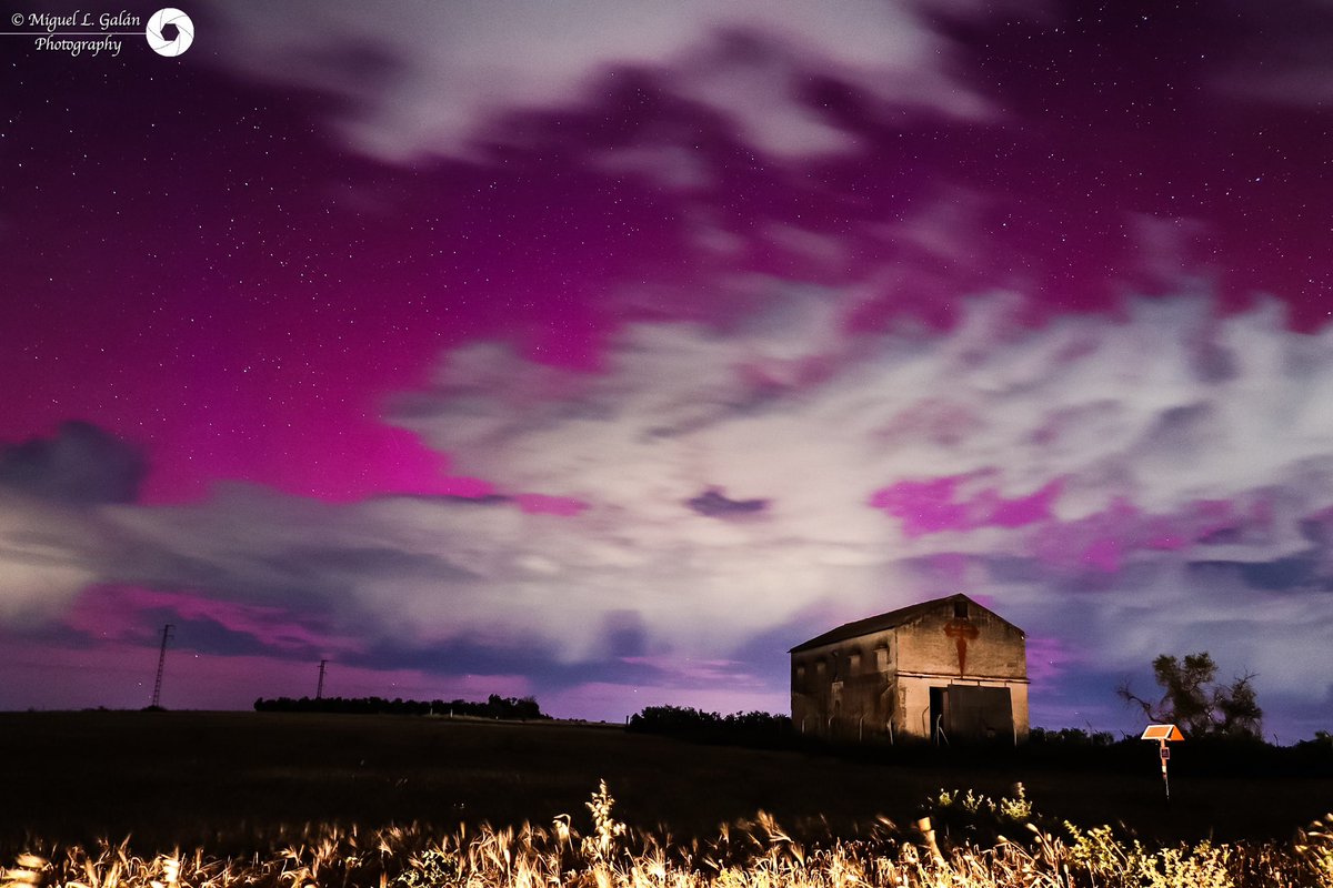
[[[1290,844],[1149,848],[1109,827],[1048,828],[1017,787],[998,800],[941,792],[912,829],[881,821],[856,839],[796,837],[769,815],[722,827],[709,841],[677,841],[616,820],[603,784],[591,817],[551,827],[460,827],[439,837],[416,825],[360,831],[311,824],[267,855],[211,856],[101,843],[29,841],[3,888],[854,888],[858,885],[1329,888],[1333,815]],[[1008,836],[1005,832],[1008,831]]]

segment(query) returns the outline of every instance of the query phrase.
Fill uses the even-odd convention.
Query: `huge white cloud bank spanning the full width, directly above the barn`
[[[1069,640],[1072,670],[1206,648],[1260,671],[1261,690],[1328,692],[1329,559],[1300,522],[1333,506],[1333,333],[1190,300],[1024,329],[1020,302],[990,297],[950,333],[870,337],[844,332],[846,308],[774,285],[772,310],[737,329],[623,330],[600,374],[472,345],[401,405],[397,421],[460,470],[577,497],[577,517],[244,486],[192,506],[28,503],[0,510],[3,614],[95,579],[284,603],[369,646],[519,644],[567,663],[615,655],[609,631],[629,626],[660,663],[961,587]],[[942,477],[965,503],[1064,483],[1052,517],[1017,526],[908,534],[869,505]],[[689,505],[714,487],[766,506]],[[1178,539],[1153,542],[1152,522]],[[1226,533],[1200,539],[1214,525]],[[932,567],[942,554],[970,560],[948,575]],[[1308,582],[1242,576],[1294,555]]]

